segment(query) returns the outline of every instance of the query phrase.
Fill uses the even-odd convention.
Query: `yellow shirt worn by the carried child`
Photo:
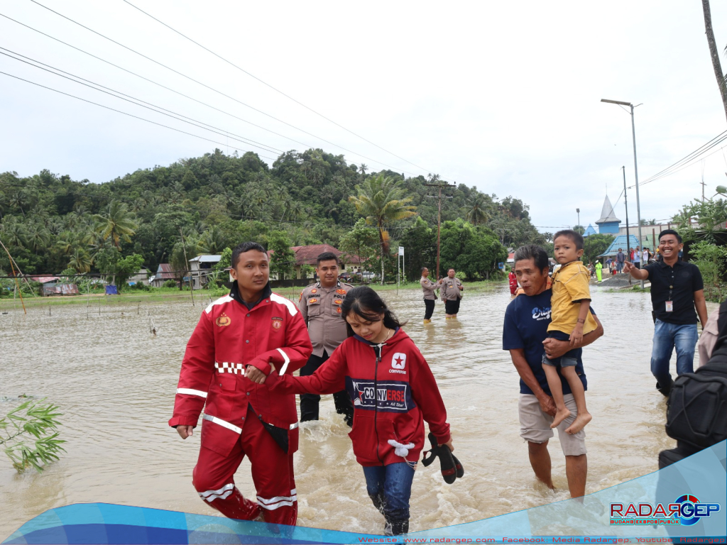
[[[578,323],[580,302],[590,299],[590,272],[579,261],[566,263],[553,275],[553,296],[550,297],[550,325],[548,331],[562,331],[573,333]],[[598,325],[593,319],[590,310],[583,324],[583,334],[595,330]]]

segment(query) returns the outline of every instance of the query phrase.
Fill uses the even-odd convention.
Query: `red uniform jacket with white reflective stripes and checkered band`
[[[305,365],[313,352],[308,330],[295,304],[269,287],[252,310],[236,288],[202,312],[182,360],[169,426],[196,426],[204,406],[202,445],[227,456],[244,429],[250,405],[262,421],[290,430],[292,453],[298,444],[295,397],[269,387],[278,375]],[[270,373],[270,363],[278,371]],[[246,366],[267,374],[265,384],[248,379]]]

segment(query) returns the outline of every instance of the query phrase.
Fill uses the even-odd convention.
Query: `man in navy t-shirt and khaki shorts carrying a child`
[[[550,396],[545,371],[542,369],[542,354],[549,358],[558,358],[568,352],[571,347],[568,341],[547,338],[547,326],[550,323],[550,296],[552,291],[547,286],[548,257],[539,246],[521,246],[515,251],[515,275],[524,293],[517,296],[507,305],[505,326],[502,328],[502,350],[509,350],[513,364],[520,375],[520,400],[518,413],[520,416],[520,436],[528,442],[530,465],[535,476],[548,488],[555,488],[550,476],[550,454],[547,443],[553,437],[555,403]],[[583,344],[591,344],[603,335],[601,321],[591,309],[598,328],[583,336]],[[587,389],[586,376],[580,355],[577,358],[576,372]],[[558,369],[560,374],[560,369]],[[585,432],[566,433],[576,418],[576,403],[566,379],[563,383],[563,398],[571,416],[558,426],[558,439],[566,456],[566,477],[572,498],[585,494],[587,461]]]

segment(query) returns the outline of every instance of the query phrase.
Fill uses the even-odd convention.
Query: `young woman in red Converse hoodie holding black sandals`
[[[409,497],[424,421],[439,445],[454,450],[446,410],[432,371],[381,297],[353,288],[341,305],[349,337],[315,374],[283,375],[276,389],[330,394],[344,387],[353,401],[348,434],[366,489],[386,519],[385,532],[409,531]]]

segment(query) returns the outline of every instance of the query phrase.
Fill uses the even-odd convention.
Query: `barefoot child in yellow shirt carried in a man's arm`
[[[561,264],[561,268],[553,274],[548,336],[561,341],[570,341],[573,349],[553,360],[543,354],[542,363],[556,408],[555,418],[550,427],[558,427],[558,424],[571,415],[563,400],[563,386],[558,376],[560,367],[561,374],[571,387],[577,409],[576,418],[566,428],[566,432],[575,434],[593,418],[586,408],[585,389],[576,373],[576,364],[581,357],[583,336],[598,326],[589,310],[590,272],[579,261],[583,255],[583,237],[574,230],[558,231],[553,238],[553,251],[555,260]]]

